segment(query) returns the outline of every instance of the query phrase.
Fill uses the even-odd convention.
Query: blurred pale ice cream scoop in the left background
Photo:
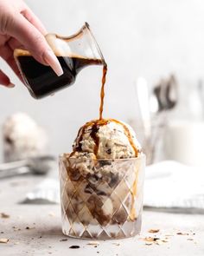
[[[3,122],[4,161],[48,154],[48,135],[28,114],[16,113]]]

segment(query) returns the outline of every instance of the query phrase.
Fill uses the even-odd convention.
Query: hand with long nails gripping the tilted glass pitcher
[[[28,49],[38,62],[62,75],[61,64],[45,40],[47,31],[22,0],[0,0],[0,56],[22,80],[14,60],[14,49]],[[10,78],[0,69],[0,84],[13,87]]]

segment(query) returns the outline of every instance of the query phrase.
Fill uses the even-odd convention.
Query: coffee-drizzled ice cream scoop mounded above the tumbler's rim
[[[133,129],[122,121],[88,121],[80,128],[70,157],[125,159],[137,157],[141,147]]]

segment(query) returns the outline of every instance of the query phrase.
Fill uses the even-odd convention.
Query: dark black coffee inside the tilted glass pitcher
[[[86,66],[102,64],[98,59],[87,59],[80,56],[58,56],[57,58],[64,71],[61,76],[55,75],[53,69],[35,61],[32,56],[17,56],[23,79],[30,94],[36,99],[51,95],[57,90],[72,85],[76,75]]]

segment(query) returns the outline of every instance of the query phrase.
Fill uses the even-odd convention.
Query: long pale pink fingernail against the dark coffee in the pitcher
[[[48,49],[43,56],[45,62],[54,70],[56,75],[63,75],[63,70],[61,69],[61,64],[58,61],[57,57],[54,55],[54,52],[51,49]]]

